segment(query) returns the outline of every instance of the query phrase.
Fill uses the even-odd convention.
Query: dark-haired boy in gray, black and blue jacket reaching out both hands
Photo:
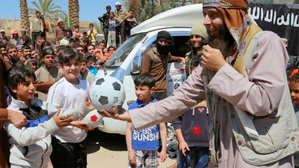
[[[70,125],[73,120],[83,119],[93,106],[85,100],[78,108],[58,110],[50,103],[33,97],[36,77],[30,67],[17,63],[9,73],[9,87],[15,93],[9,110],[24,114],[28,124],[16,128],[6,122],[4,128],[10,137],[11,167],[48,167],[52,151],[51,136],[55,130]],[[89,108],[89,107],[91,108]],[[57,112],[56,112],[57,111]]]

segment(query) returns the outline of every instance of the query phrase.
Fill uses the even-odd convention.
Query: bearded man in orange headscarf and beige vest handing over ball
[[[211,37],[202,66],[164,100],[103,116],[136,130],[174,119],[206,98],[212,115],[211,162],[218,167],[293,167],[299,128],[287,85],[287,50],[247,14],[246,0],[204,0]],[[122,113],[122,114],[121,114]],[[216,165],[217,166],[217,165]]]

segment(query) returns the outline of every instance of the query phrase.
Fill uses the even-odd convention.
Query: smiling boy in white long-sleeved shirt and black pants
[[[64,77],[50,87],[47,102],[55,108],[73,109],[89,95],[90,85],[77,77],[80,73],[81,55],[74,48],[66,48],[59,54]],[[67,126],[53,133],[53,152],[50,156],[54,167],[86,167],[86,133]]]

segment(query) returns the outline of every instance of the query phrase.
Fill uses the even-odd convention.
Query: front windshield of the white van
[[[146,34],[137,34],[128,38],[121,46],[116,49],[115,53],[104,63],[106,68],[116,69],[125,61],[134,47],[140,43]]]

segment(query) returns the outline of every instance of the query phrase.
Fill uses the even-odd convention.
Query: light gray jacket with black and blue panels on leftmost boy
[[[12,99],[7,109],[18,111],[29,120],[29,123],[20,129],[8,121],[4,125],[10,137],[10,163],[20,167],[48,167],[52,152],[51,134],[59,129],[52,117],[58,109],[37,98],[31,99],[30,107],[23,101]],[[77,109],[61,109],[59,115],[69,114],[74,120],[78,120],[83,119],[90,111],[82,104]]]

